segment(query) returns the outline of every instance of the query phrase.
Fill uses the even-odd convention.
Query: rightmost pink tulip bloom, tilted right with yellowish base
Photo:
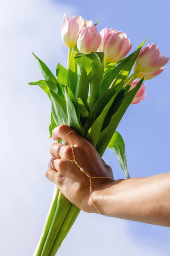
[[[160,54],[158,46],[150,44],[144,47],[137,56],[134,71],[139,71],[140,73],[152,73],[160,70],[168,60],[169,58]]]

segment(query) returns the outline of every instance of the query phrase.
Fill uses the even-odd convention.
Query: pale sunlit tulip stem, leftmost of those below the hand
[[[42,235],[41,238],[38,242],[38,245],[34,251],[34,256],[40,256],[42,253],[42,248],[44,246],[45,240],[48,236],[48,232],[49,229],[51,227],[51,223],[52,223],[52,219],[54,217],[54,213],[56,210],[56,205],[57,205],[57,201],[58,201],[58,196],[59,196],[59,189],[57,188],[57,186],[55,186],[54,188],[54,192],[53,192],[53,196],[52,196],[52,200],[51,200],[51,205],[47,214],[47,218],[45,220],[45,225],[44,228],[42,230]]]

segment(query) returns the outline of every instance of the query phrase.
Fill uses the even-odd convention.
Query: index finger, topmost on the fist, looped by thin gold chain
[[[83,137],[78,135],[73,129],[71,129],[68,125],[60,125],[53,129],[52,131],[52,139],[59,140],[61,138],[69,145],[74,146],[78,144],[80,140],[84,140]]]

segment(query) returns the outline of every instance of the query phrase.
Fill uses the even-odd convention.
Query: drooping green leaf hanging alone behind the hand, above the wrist
[[[123,138],[119,134],[119,132],[115,131],[112,138],[110,139],[110,142],[108,146],[110,149],[113,150],[115,155],[118,156],[118,161],[125,172],[126,178],[130,178],[127,170],[127,160],[126,160],[126,154],[125,154],[125,143],[123,141]]]

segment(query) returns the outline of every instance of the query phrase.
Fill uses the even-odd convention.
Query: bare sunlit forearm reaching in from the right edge
[[[170,227],[170,173],[111,181],[93,201],[105,215]]]

